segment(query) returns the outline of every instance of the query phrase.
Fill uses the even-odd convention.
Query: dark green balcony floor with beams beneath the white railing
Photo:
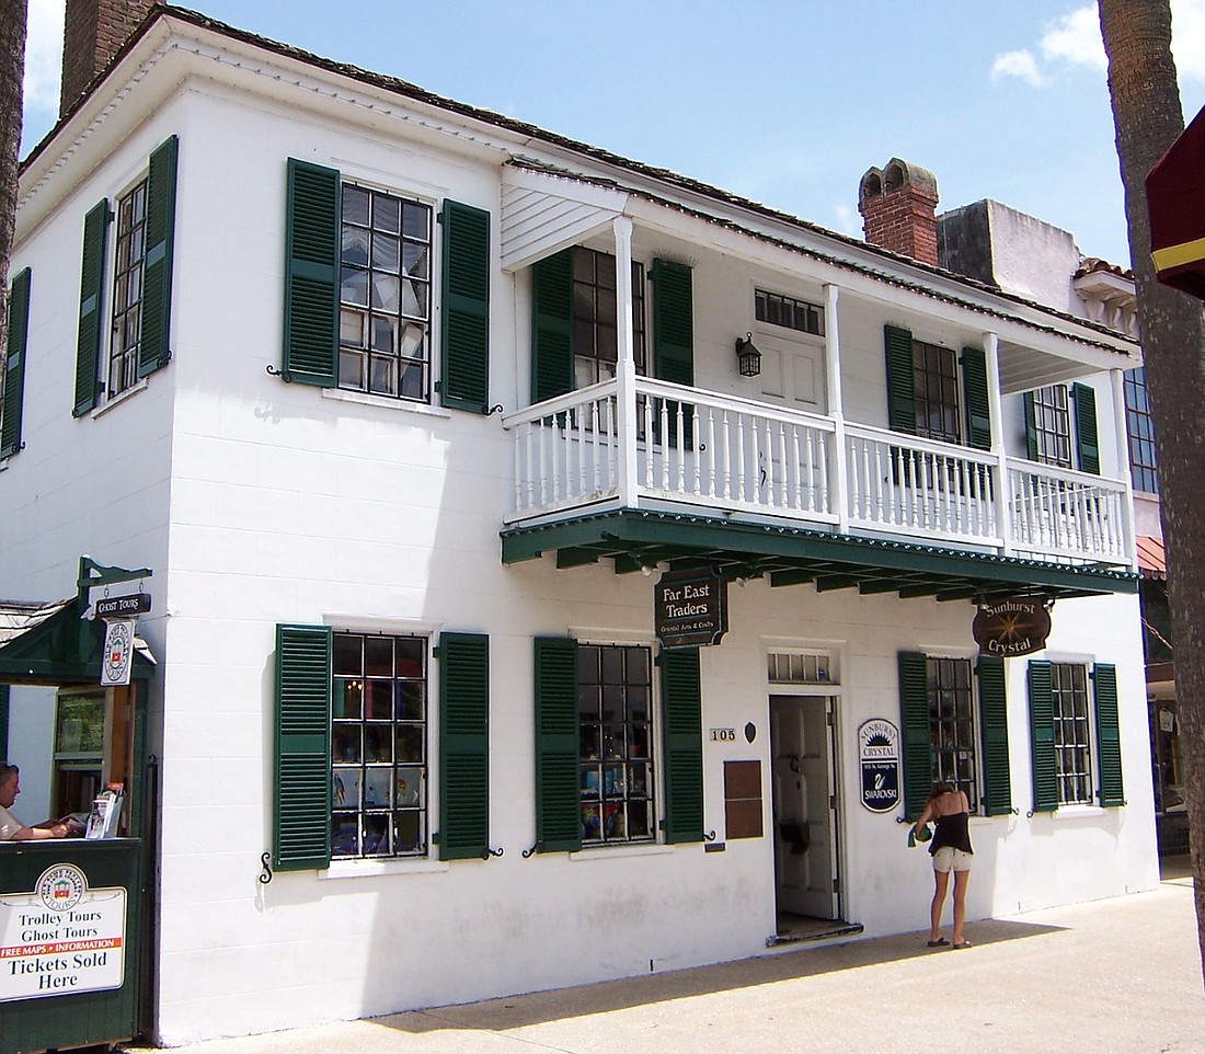
[[[901,599],[987,601],[1018,594],[1053,599],[1136,593],[1138,576],[1116,567],[1042,563],[919,542],[898,542],[778,524],[619,508],[568,516],[501,532],[502,563],[556,552],[558,567],[615,561],[617,573],[662,561],[703,561],[728,578],[771,585],[815,583]]]

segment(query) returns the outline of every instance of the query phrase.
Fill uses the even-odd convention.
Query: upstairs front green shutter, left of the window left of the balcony
[[[323,388],[337,383],[339,201],[339,172],[289,158],[282,366]]]

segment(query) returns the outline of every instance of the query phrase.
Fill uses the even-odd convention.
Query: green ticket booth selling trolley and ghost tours
[[[84,557],[75,597],[0,601],[5,731],[23,700],[53,702],[52,756],[36,765],[49,772],[51,815],[71,814],[86,832],[0,842],[0,1054],[119,1043],[151,1029],[158,781],[146,712],[154,665],[128,634],[129,683],[107,683],[119,656],[94,602],[98,589],[149,575]],[[10,761],[36,767],[35,759]],[[20,800],[13,811],[27,824],[43,819]]]

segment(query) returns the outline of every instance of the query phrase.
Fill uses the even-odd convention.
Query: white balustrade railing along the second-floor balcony
[[[594,505],[699,506],[1010,555],[1131,563],[1123,481],[643,377],[625,444],[618,391],[607,381],[504,419],[515,436],[509,523]]]

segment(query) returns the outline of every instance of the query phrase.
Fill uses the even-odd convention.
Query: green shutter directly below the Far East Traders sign
[[[662,652],[665,841],[703,841],[703,699],[699,649]]]

